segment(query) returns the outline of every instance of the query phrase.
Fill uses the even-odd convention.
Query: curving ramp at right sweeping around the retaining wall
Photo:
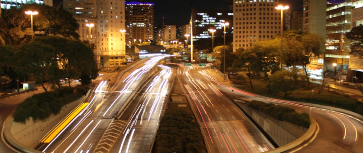
[[[213,84],[215,84],[218,89],[223,90],[224,93],[229,94],[229,97],[234,95],[267,103],[286,105],[299,112],[310,112],[308,103],[271,99],[252,94],[238,88],[225,86],[224,84],[217,82],[216,78],[214,78],[211,73],[207,74],[211,77]],[[232,90],[234,92],[232,92]],[[363,153],[363,141],[359,139],[363,136],[362,119],[346,113],[334,111],[334,108],[328,109],[323,108],[323,106],[314,106],[311,107],[311,116],[314,117],[318,123],[318,133],[315,133],[310,140],[301,146],[289,150],[288,152],[315,153],[319,151],[324,153]]]

